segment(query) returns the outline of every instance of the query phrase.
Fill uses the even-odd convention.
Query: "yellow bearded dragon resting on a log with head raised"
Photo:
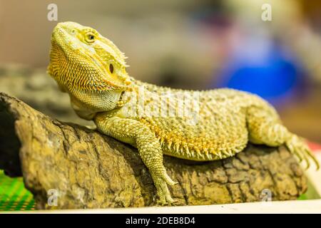
[[[163,155],[222,160],[253,142],[286,145],[307,167],[312,159],[319,168],[305,140],[290,133],[272,105],[257,95],[143,83],[128,76],[125,60],[124,53],[95,29],[63,22],[51,36],[48,73],[70,95],[79,117],[93,120],[101,133],[138,148],[161,204],[174,202],[168,185],[176,183],[166,173]]]

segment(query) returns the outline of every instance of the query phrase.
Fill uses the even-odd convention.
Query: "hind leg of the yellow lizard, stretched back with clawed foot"
[[[250,142],[272,147],[285,145],[300,162],[305,160],[306,168],[310,167],[309,159],[312,159],[317,170],[319,169],[319,162],[312,155],[305,140],[290,133],[274,113],[258,108],[250,109],[247,121]]]

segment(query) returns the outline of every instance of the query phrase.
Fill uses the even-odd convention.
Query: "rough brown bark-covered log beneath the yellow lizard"
[[[307,180],[285,147],[248,145],[215,162],[164,157],[175,205],[296,199]],[[156,188],[138,152],[80,125],[54,120],[0,93],[0,169],[23,175],[38,208],[58,192],[58,208],[144,207]]]

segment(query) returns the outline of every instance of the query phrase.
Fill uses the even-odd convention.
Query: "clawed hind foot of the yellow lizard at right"
[[[297,158],[302,162],[302,160],[305,160],[306,163],[306,169],[310,167],[310,161],[309,159],[312,159],[315,163],[317,170],[320,169],[320,164],[315,158],[314,155],[312,155],[312,152],[305,142],[303,138],[300,138],[299,136],[292,134],[290,135],[290,138],[285,141],[285,145],[287,148],[292,152],[294,155],[297,156]]]

